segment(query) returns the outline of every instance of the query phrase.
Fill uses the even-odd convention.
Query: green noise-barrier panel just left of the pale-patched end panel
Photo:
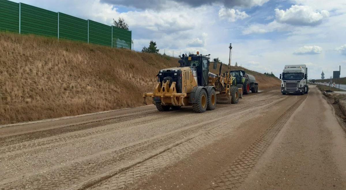
[[[112,27],[89,20],[89,43],[112,46]]]

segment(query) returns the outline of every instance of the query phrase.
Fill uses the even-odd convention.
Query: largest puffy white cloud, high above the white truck
[[[329,17],[326,10],[313,10],[310,6],[292,5],[286,10],[275,9],[275,17],[278,22],[290,25],[316,26],[322,22],[322,19]]]

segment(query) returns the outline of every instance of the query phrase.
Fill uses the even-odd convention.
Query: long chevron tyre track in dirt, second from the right
[[[257,107],[256,110],[249,111],[248,113],[243,114],[242,116],[232,118],[230,120],[227,120],[226,122],[214,122],[219,123],[218,127],[216,127],[213,130],[209,130],[206,133],[203,133],[189,141],[186,141],[180,145],[177,145],[171,149],[168,149],[167,151],[163,152],[162,154],[156,155],[151,159],[145,160],[142,163],[138,163],[134,165],[131,168],[128,168],[124,171],[119,171],[118,173],[115,173],[113,176],[109,177],[109,179],[106,179],[102,182],[94,182],[94,185],[91,184],[80,184],[80,186],[77,186],[77,189],[123,189],[126,188],[128,185],[133,184],[135,180],[139,180],[140,178],[149,175],[151,173],[154,173],[157,169],[163,168],[167,165],[173,164],[177,160],[180,160],[185,155],[190,154],[195,149],[198,149],[199,147],[206,145],[207,143],[211,143],[212,141],[215,141],[218,136],[221,134],[227,134],[234,129],[235,126],[238,126],[247,120],[249,118],[252,118],[254,115],[260,113],[263,109],[267,109],[271,107],[271,104],[275,104],[279,101],[273,101],[270,104],[267,104],[265,106]],[[261,111],[258,111],[261,110]],[[223,121],[223,120],[221,120]],[[233,127],[229,127],[227,124],[232,123]],[[211,141],[211,142],[208,142]],[[103,180],[103,179],[102,179]]]

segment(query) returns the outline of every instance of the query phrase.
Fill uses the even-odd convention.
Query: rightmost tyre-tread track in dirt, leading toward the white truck
[[[238,189],[255,167],[260,157],[267,151],[268,147],[293,112],[307,97],[308,96],[301,96],[296,103],[277,118],[277,120],[275,120],[275,122],[273,122],[270,127],[228,167],[227,171],[220,173],[215,178],[217,180],[213,181],[206,189]]]

